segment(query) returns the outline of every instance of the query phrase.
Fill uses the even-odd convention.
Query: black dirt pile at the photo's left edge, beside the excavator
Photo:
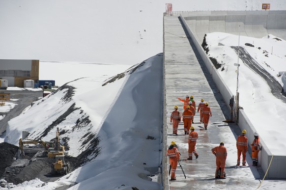
[[[5,168],[13,163],[13,157],[18,151],[19,147],[7,142],[0,143],[0,176],[5,171]]]

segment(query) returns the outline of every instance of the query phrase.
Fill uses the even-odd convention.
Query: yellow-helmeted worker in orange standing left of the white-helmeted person
[[[236,140],[236,148],[237,148],[237,164],[236,165],[240,165],[241,153],[242,153],[242,165],[246,165],[246,152],[248,149],[248,145],[247,145],[248,139],[245,136],[246,130],[243,130],[241,133],[242,134],[238,136]]]

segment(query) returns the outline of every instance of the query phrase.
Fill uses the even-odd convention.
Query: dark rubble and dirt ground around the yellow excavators
[[[62,177],[62,174],[51,174],[51,165],[54,158],[44,157],[43,150],[37,154],[26,155],[24,159],[13,159],[19,147],[3,142],[0,143],[0,179],[14,185],[35,178],[43,182],[53,182]],[[65,157],[71,163],[71,171],[80,166],[80,160],[75,157]]]

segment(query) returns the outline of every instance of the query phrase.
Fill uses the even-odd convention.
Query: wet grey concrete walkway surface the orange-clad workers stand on
[[[168,145],[175,141],[181,153],[180,163],[186,178],[181,170],[176,169],[176,181],[170,181],[171,190],[207,190],[207,189],[255,189],[261,178],[259,169],[252,166],[251,156],[247,154],[247,166],[235,166],[237,159],[236,138],[240,130],[235,123],[223,121],[230,118],[230,111],[222,96],[217,90],[210,74],[201,61],[200,55],[188,39],[184,28],[177,16],[164,17],[165,30],[165,73],[166,73],[166,102],[167,122],[174,106],[183,112],[183,102],[177,98],[193,95],[196,101],[196,110],[203,98],[209,103],[212,117],[207,127],[200,123],[200,114],[196,111],[194,118],[195,131],[198,133],[196,150],[199,158],[188,158],[188,135],[184,135],[183,123],[179,124],[178,136],[172,134],[172,124],[168,123]],[[225,142],[228,149],[226,162],[227,179],[215,179],[215,156],[211,149]]]

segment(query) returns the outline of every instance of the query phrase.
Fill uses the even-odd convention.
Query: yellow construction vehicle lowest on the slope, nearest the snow
[[[64,155],[57,155],[55,157],[55,163],[51,166],[51,173],[52,174],[68,174],[70,172],[70,163],[66,162]]]

